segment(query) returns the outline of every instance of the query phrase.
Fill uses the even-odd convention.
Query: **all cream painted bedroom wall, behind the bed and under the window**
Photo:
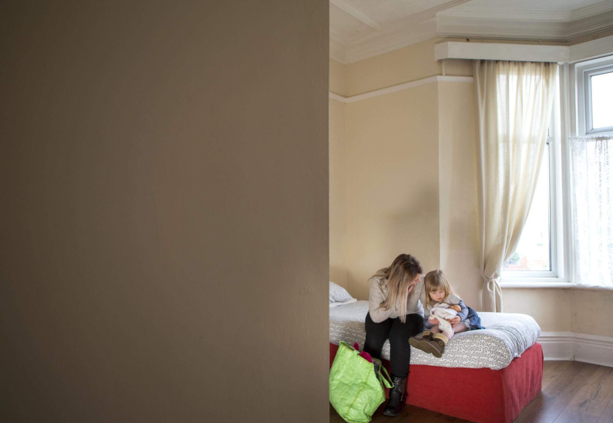
[[[346,95],[442,74],[442,63],[433,59],[440,41],[341,67]],[[471,62],[447,60],[444,72],[471,75]],[[466,303],[480,310],[473,85],[438,82],[346,104],[343,145],[346,195],[331,195],[330,210],[345,202],[349,292],[366,299],[368,276],[406,252],[426,270],[440,266]],[[330,156],[330,186],[343,175],[334,163]],[[330,234],[334,226],[331,221]],[[331,244],[330,257],[333,250]],[[611,291],[505,288],[503,303],[504,311],[530,314],[547,332],[613,337]],[[595,307],[605,318],[594,318]]]

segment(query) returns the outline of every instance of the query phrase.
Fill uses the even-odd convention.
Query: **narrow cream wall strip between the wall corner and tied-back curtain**
[[[441,269],[481,310],[473,83],[438,83]]]

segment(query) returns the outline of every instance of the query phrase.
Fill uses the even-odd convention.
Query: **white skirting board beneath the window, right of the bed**
[[[536,340],[546,360],[575,360],[613,367],[613,337],[575,332],[543,332]]]

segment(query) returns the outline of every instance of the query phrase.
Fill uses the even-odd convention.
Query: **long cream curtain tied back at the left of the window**
[[[557,71],[555,63],[474,62],[484,311],[502,311],[500,272],[530,210]]]

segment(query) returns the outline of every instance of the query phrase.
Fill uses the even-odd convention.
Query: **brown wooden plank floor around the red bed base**
[[[546,361],[543,390],[514,423],[613,423],[613,368],[577,361]],[[462,423],[467,420],[405,405],[398,417],[383,415],[385,403],[372,423]],[[330,423],[343,419],[330,406]]]

